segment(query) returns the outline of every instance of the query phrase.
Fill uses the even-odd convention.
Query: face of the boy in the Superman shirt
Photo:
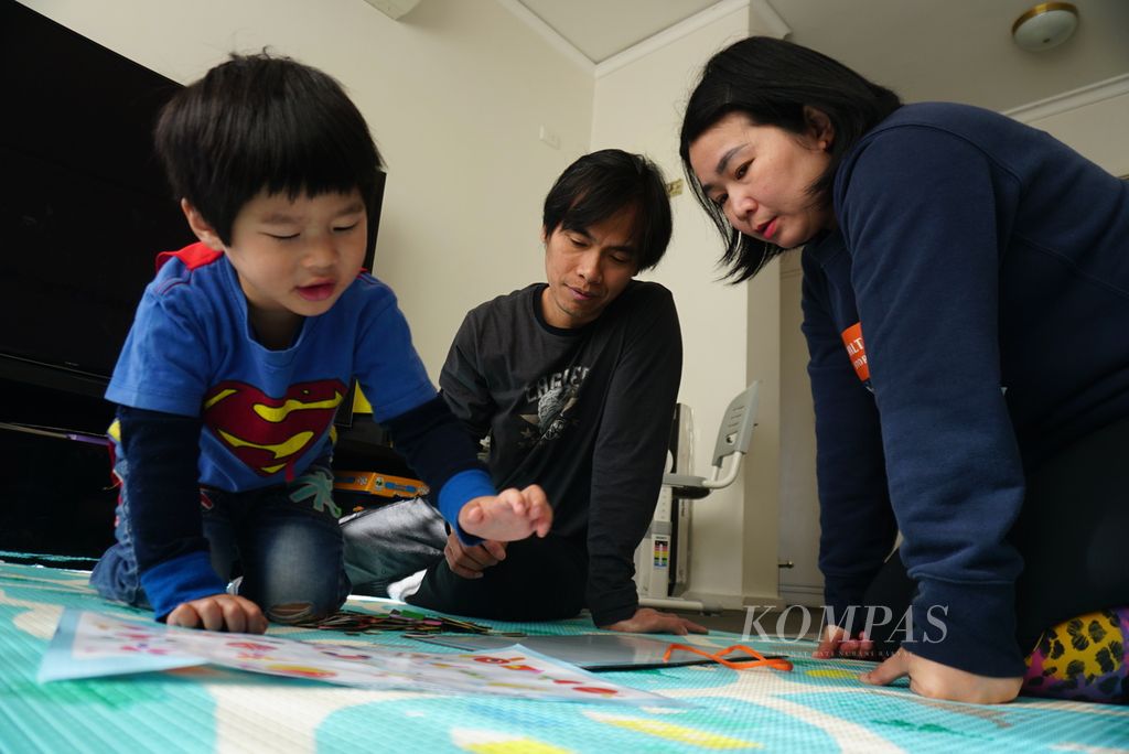
[[[287,323],[329,312],[357,278],[367,240],[365,202],[357,190],[294,201],[263,192],[235,217],[230,245],[220,245],[239,275],[252,324],[263,335],[264,330],[285,334]]]

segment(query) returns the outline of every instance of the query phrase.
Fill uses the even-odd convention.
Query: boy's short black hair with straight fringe
[[[154,137],[174,196],[225,244],[263,190],[292,200],[357,188],[369,248],[375,242],[380,154],[341,85],[315,68],[265,51],[233,54],[177,93]]]

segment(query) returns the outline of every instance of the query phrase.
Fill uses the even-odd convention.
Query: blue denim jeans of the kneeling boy
[[[130,529],[122,454],[114,472],[122,481],[114,534],[90,584],[103,597],[148,607]],[[333,474],[314,464],[288,484],[247,492],[200,490],[203,532],[211,563],[225,581],[242,578],[238,594],[257,604],[271,621],[292,623],[335,612],[349,596],[342,561],[341,510],[333,502]],[[231,589],[229,589],[231,590]]]

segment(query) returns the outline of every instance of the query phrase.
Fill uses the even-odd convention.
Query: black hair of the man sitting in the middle
[[[545,235],[558,227],[585,230],[625,208],[636,210],[631,239],[641,272],[658,264],[671,242],[671,200],[663,172],[641,155],[603,149],[569,165],[545,196],[542,225]]]

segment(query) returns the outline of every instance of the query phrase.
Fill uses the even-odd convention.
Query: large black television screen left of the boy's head
[[[100,393],[158,252],[192,240],[152,157],[180,85],[0,0],[0,376]]]

